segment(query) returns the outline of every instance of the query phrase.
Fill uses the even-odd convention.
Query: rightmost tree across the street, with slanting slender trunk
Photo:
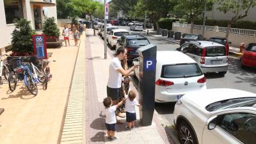
[[[217,9],[221,12],[234,13],[234,16],[228,22],[226,38],[228,38],[232,24],[235,24],[237,20],[246,17],[250,8],[253,8],[256,5],[256,0],[216,0],[216,2],[220,4]]]

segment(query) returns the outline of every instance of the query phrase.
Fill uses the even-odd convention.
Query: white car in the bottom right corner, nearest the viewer
[[[216,88],[187,93],[174,109],[181,144],[255,144],[256,94]]]

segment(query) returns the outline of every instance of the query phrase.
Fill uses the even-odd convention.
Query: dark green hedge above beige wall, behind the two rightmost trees
[[[195,24],[203,25],[204,20],[195,20]],[[220,26],[226,27],[228,26],[229,20],[205,20],[205,26]],[[251,22],[248,20],[238,20],[236,24],[232,24],[231,28],[239,28],[239,29],[256,29],[256,22]]]

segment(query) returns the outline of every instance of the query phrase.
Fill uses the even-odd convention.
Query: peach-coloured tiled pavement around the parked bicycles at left
[[[74,45],[74,40],[70,40],[70,45]],[[47,52],[52,52],[49,59],[52,79],[47,90],[38,85],[36,97],[28,92],[24,83],[18,83],[12,93],[8,90],[8,83],[0,85],[0,107],[5,110],[0,115],[1,144],[60,141],[58,139],[70,93],[77,51],[78,47],[75,46],[47,49]]]

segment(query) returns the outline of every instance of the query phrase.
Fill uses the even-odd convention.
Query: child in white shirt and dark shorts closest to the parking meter
[[[124,84],[123,84],[123,92],[125,93]],[[136,120],[135,106],[140,106],[140,104],[135,98],[136,98],[136,94],[132,90],[129,92],[129,95],[126,95],[125,93],[126,122],[128,122],[128,125],[125,127],[125,129],[129,131],[134,128],[134,123]]]

